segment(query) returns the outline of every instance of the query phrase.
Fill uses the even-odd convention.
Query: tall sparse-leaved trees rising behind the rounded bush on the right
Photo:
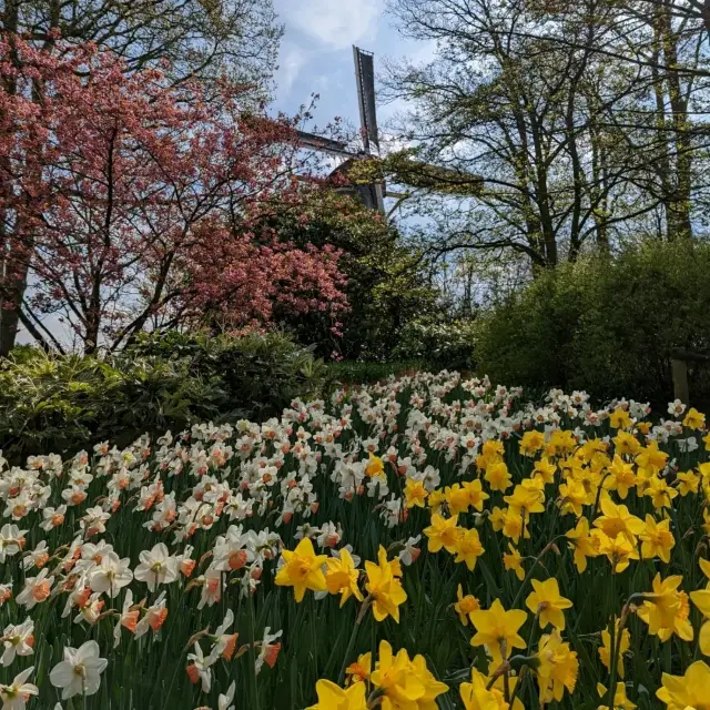
[[[514,250],[535,273],[652,231],[659,213],[668,239],[692,234],[702,37],[670,0],[642,4],[389,0],[400,32],[436,42],[428,64],[384,78],[414,104],[402,135],[485,180],[430,211],[433,251]]]

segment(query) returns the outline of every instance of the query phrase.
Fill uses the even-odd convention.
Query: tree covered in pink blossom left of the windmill
[[[345,307],[338,253],[250,231],[296,200],[293,122],[223,81],[216,101],[91,44],[0,40],[0,295],[40,342],[55,314],[87,353],[219,311],[267,324],[273,304]]]

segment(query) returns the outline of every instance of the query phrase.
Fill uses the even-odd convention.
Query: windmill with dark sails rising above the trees
[[[385,197],[406,197],[406,193],[389,192],[385,182],[388,173],[397,183],[412,187],[428,187],[435,192],[471,196],[483,189],[483,180],[477,175],[440,168],[419,161],[410,160],[407,154],[393,155],[385,161],[381,158],[379,135],[377,131],[377,109],[375,103],[375,55],[359,47],[353,45],[355,62],[355,80],[357,84],[357,105],[359,109],[361,134],[363,149],[353,151],[344,141],[298,131],[298,143],[304,148],[344,159],[331,175],[348,175],[356,161],[371,161],[375,168],[373,182],[357,181],[342,187],[339,191],[359,200],[366,207],[384,213]],[[392,159],[392,160],[390,160]]]

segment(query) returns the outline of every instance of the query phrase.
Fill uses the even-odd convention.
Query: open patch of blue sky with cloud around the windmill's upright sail
[[[429,47],[399,36],[384,0],[274,0],[274,6],[285,24],[274,108],[295,113],[317,93],[313,124],[320,128],[336,115],[359,126],[353,44],[375,53],[375,72],[384,57],[430,55]],[[397,109],[379,106],[381,129]]]

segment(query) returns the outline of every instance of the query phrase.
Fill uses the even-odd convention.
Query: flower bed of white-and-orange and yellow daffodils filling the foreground
[[[2,707],[707,710],[710,435],[663,417],[444,372],[3,466]]]

